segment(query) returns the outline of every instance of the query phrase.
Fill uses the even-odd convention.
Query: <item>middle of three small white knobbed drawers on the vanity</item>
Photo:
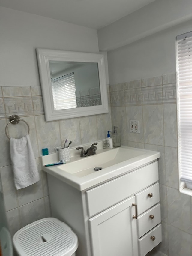
[[[160,204],[144,212],[137,218],[138,236],[141,237],[161,222]]]

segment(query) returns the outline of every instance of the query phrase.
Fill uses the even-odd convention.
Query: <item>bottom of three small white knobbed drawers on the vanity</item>
[[[153,237],[155,240],[152,239]],[[140,256],[146,255],[160,242],[162,242],[161,224],[159,224],[157,227],[149,231],[145,236],[142,236],[138,240]]]

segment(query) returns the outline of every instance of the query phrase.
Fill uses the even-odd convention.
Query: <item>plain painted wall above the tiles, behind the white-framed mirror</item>
[[[0,85],[38,86],[36,48],[98,52],[96,29],[0,7]]]

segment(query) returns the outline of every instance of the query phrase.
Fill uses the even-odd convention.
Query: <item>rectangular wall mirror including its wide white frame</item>
[[[37,49],[46,121],[108,112],[104,55]]]

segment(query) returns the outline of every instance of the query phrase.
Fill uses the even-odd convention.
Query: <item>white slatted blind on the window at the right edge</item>
[[[192,32],[176,38],[179,176],[192,188]]]

